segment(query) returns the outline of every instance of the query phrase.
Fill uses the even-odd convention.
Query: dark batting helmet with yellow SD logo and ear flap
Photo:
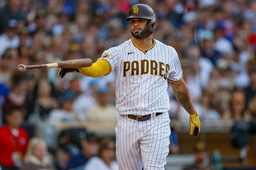
[[[152,8],[146,4],[133,5],[129,11],[129,17],[125,20],[130,21],[131,18],[143,18],[149,20],[146,28],[140,31],[140,38],[148,38],[148,36],[156,29],[156,15]]]

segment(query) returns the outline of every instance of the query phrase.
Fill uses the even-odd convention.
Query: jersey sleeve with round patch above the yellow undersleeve
[[[112,71],[117,66],[119,56],[120,54],[119,54],[118,48],[112,47],[112,48],[109,48],[108,50],[105,50],[98,60],[101,60],[101,59],[106,60],[109,64],[110,70]]]

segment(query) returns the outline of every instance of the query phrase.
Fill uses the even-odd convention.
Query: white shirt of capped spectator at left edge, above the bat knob
[[[0,58],[4,54],[5,50],[8,48],[18,48],[20,45],[20,40],[18,35],[14,35],[12,39],[8,37],[6,33],[0,35]]]

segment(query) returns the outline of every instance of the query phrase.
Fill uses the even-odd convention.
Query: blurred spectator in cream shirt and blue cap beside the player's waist
[[[115,106],[108,104],[108,88],[99,88],[97,91],[98,106],[88,110],[87,118],[92,121],[116,121],[117,112]]]

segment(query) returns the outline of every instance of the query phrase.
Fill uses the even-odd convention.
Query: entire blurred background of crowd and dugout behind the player
[[[176,49],[201,121],[190,136],[169,86],[165,169],[256,169],[255,0],[0,0],[2,170],[103,169],[89,163],[95,155],[115,169],[114,73],[61,79],[59,69],[17,65],[95,62],[132,38],[124,19],[138,3],[156,13],[153,38]]]

